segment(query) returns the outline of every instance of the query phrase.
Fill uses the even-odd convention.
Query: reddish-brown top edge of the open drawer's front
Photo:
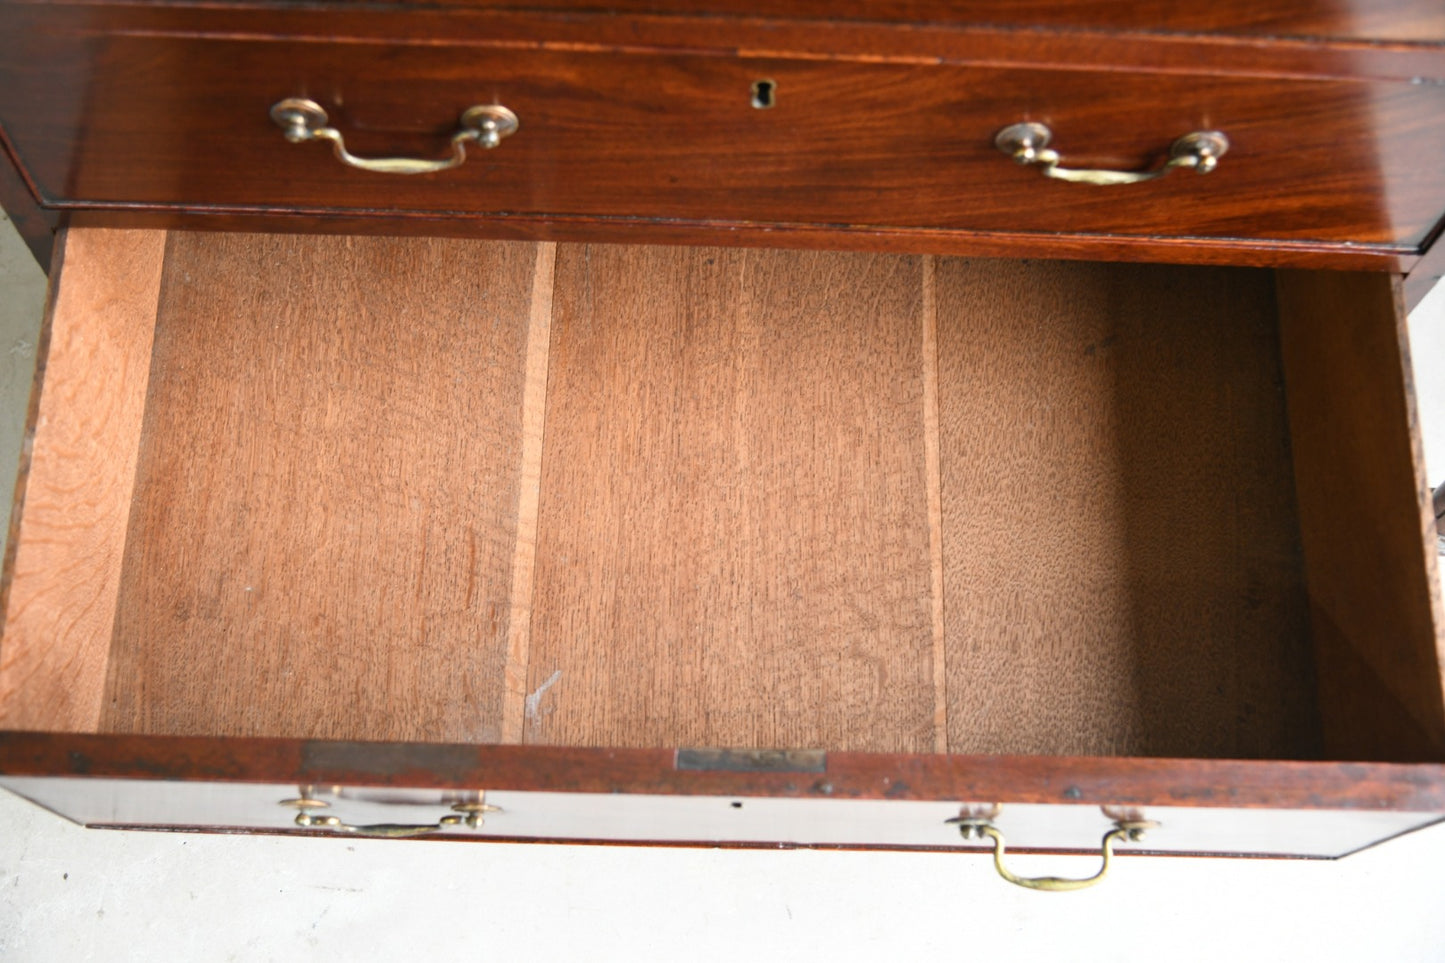
[[[0,772],[549,792],[1445,810],[1445,765],[828,753],[827,772],[678,769],[672,749],[0,733]],[[319,763],[318,763],[319,761]]]

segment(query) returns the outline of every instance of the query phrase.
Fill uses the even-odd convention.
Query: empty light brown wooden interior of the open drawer
[[[1389,279],[101,230],[56,276],[4,727],[1445,756]]]

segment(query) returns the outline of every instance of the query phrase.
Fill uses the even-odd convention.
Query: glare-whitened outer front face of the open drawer
[[[422,836],[490,840],[691,843],[776,847],[974,850],[951,821],[987,811],[1010,847],[1097,850],[1116,813],[1097,805],[978,805],[949,801],[780,800],[597,792],[506,792],[298,787],[143,779],[9,776],[0,785],[77,823],[285,833],[298,827],[298,800],[340,836]],[[468,804],[488,808],[480,826],[444,824]],[[460,804],[460,805],[458,805]],[[1438,813],[1358,810],[1230,810],[1152,807],[1131,818],[1156,823],[1120,853],[1338,857],[1428,826]],[[428,833],[428,829],[432,831]],[[311,829],[309,831],[316,831]]]

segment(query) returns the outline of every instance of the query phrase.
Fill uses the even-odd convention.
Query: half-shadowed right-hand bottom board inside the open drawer
[[[1263,272],[942,260],[951,752],[1319,752]]]

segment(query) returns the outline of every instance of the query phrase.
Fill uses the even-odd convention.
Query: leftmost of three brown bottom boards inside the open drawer
[[[536,263],[172,236],[105,730],[500,736]]]

